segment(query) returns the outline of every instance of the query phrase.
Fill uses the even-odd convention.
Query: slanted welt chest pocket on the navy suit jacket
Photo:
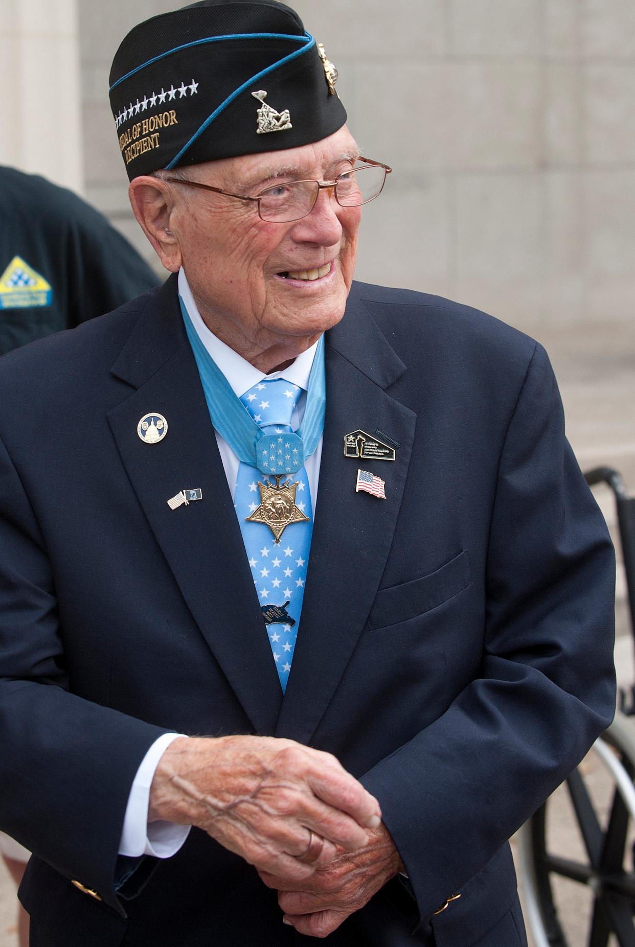
[[[366,627],[372,631],[423,615],[463,592],[471,581],[469,554],[463,550],[420,579],[377,592]]]

